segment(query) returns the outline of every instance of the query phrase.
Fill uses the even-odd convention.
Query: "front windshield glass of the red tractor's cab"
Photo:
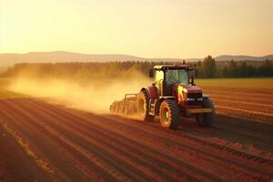
[[[175,83],[188,85],[188,73],[185,69],[168,69],[165,76],[168,86]]]

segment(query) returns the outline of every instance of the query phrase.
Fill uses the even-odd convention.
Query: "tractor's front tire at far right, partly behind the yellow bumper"
[[[203,100],[203,106],[204,108],[212,108],[212,112],[196,116],[197,123],[200,126],[207,126],[207,127],[213,126],[214,117],[215,117],[214,104],[209,98],[206,97]]]

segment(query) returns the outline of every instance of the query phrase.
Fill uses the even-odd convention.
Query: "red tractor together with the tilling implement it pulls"
[[[214,104],[195,85],[194,69],[186,64],[154,66],[149,70],[149,76],[155,77],[151,86],[141,88],[138,94],[127,94],[122,101],[115,101],[110,111],[123,115],[136,113],[145,121],[159,116],[161,125],[168,128],[176,128],[181,116],[194,116],[199,125],[212,126]]]

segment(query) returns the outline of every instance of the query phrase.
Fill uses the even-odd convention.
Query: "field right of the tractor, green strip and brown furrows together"
[[[273,122],[273,79],[201,79],[197,84],[212,96],[217,112]]]

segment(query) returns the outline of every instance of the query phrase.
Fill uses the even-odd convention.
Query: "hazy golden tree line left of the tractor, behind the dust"
[[[158,63],[157,63],[158,64]],[[100,82],[115,81],[146,76],[148,69],[157,65],[147,62],[110,63],[56,63],[56,64],[16,64],[2,75],[4,77],[35,77]]]

